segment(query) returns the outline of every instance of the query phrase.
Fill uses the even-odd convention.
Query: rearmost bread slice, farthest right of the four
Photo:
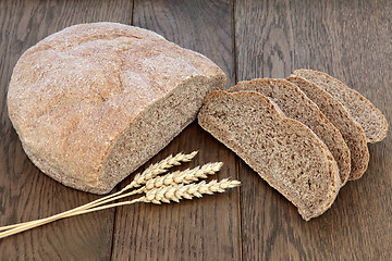
[[[296,70],[293,74],[318,85],[340,101],[350,115],[364,128],[368,142],[381,141],[387,136],[387,119],[380,110],[358,91],[348,88],[342,82],[326,73],[313,70]]]

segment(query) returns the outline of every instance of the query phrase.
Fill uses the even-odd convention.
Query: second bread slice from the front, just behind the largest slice
[[[351,171],[350,149],[341,133],[322,114],[318,107],[294,84],[285,79],[253,79],[240,82],[229,89],[231,92],[253,90],[271,99],[284,115],[308,126],[328,147],[338,162],[342,186]]]

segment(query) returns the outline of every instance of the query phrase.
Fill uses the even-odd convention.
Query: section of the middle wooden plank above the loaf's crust
[[[168,40],[217,63],[234,83],[232,5],[218,1],[135,1],[133,25],[155,30]]]

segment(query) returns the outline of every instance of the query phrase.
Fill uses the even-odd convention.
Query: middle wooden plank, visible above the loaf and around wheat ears
[[[226,72],[232,85],[231,10],[230,1],[135,1],[133,25],[206,54]],[[193,150],[199,154],[183,167],[222,161],[217,177],[235,177],[234,153],[196,123],[150,162]],[[112,259],[240,260],[240,239],[237,190],[181,203],[136,204],[118,209]]]

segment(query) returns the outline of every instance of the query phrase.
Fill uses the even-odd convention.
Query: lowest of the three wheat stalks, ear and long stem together
[[[11,235],[21,233],[21,232],[25,232],[25,231],[32,229],[34,227],[37,227],[37,226],[40,226],[40,225],[44,225],[44,224],[47,224],[47,223],[50,223],[50,222],[53,222],[57,220],[61,220],[64,217],[85,214],[85,213],[89,213],[89,212],[94,212],[94,211],[119,207],[119,206],[133,204],[136,202],[145,202],[145,203],[151,202],[151,203],[156,203],[156,204],[160,204],[161,202],[170,203],[171,201],[179,202],[181,199],[192,199],[193,197],[200,198],[205,194],[212,195],[215,192],[223,192],[228,188],[234,188],[234,187],[240,186],[240,184],[241,183],[237,181],[229,181],[229,179],[224,178],[221,182],[211,181],[210,183],[200,182],[198,184],[189,184],[189,185],[180,184],[180,185],[162,186],[159,188],[154,188],[151,190],[148,190],[146,192],[146,196],[143,196],[143,197],[134,199],[134,200],[101,206],[101,207],[91,208],[91,209],[82,209],[77,212],[69,212],[66,214],[61,213],[63,215],[58,214],[58,215],[53,215],[53,216],[50,216],[47,219],[29,222],[28,224],[24,224],[24,225],[15,227],[15,228],[8,229],[5,232],[1,232],[0,238],[4,238],[4,237],[8,237]],[[138,189],[138,190],[142,190],[142,189]],[[134,192],[134,191],[132,191],[132,192]],[[130,194],[132,194],[132,192],[130,192]]]

